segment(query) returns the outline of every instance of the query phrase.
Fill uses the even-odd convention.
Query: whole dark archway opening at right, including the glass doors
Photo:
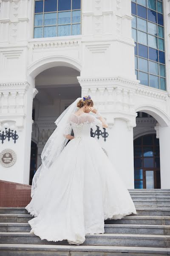
[[[159,189],[160,151],[155,129],[158,122],[149,113],[137,113],[133,128],[134,186],[136,189]]]

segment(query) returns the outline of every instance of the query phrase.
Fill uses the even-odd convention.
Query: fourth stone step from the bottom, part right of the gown
[[[105,220],[105,224],[170,225],[170,216],[125,216],[120,220]]]

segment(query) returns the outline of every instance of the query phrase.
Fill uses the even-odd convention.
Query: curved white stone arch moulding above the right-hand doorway
[[[141,105],[135,111],[142,111],[153,116],[160,126],[167,127],[170,125],[170,118],[167,114],[153,105]]]

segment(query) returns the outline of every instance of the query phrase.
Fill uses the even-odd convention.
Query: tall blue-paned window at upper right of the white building
[[[166,90],[162,0],[132,0],[135,71],[141,84]]]

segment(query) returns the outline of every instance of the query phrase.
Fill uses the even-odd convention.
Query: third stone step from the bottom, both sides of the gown
[[[28,223],[0,223],[0,232],[30,232]],[[170,225],[105,224],[106,234],[170,235]]]

